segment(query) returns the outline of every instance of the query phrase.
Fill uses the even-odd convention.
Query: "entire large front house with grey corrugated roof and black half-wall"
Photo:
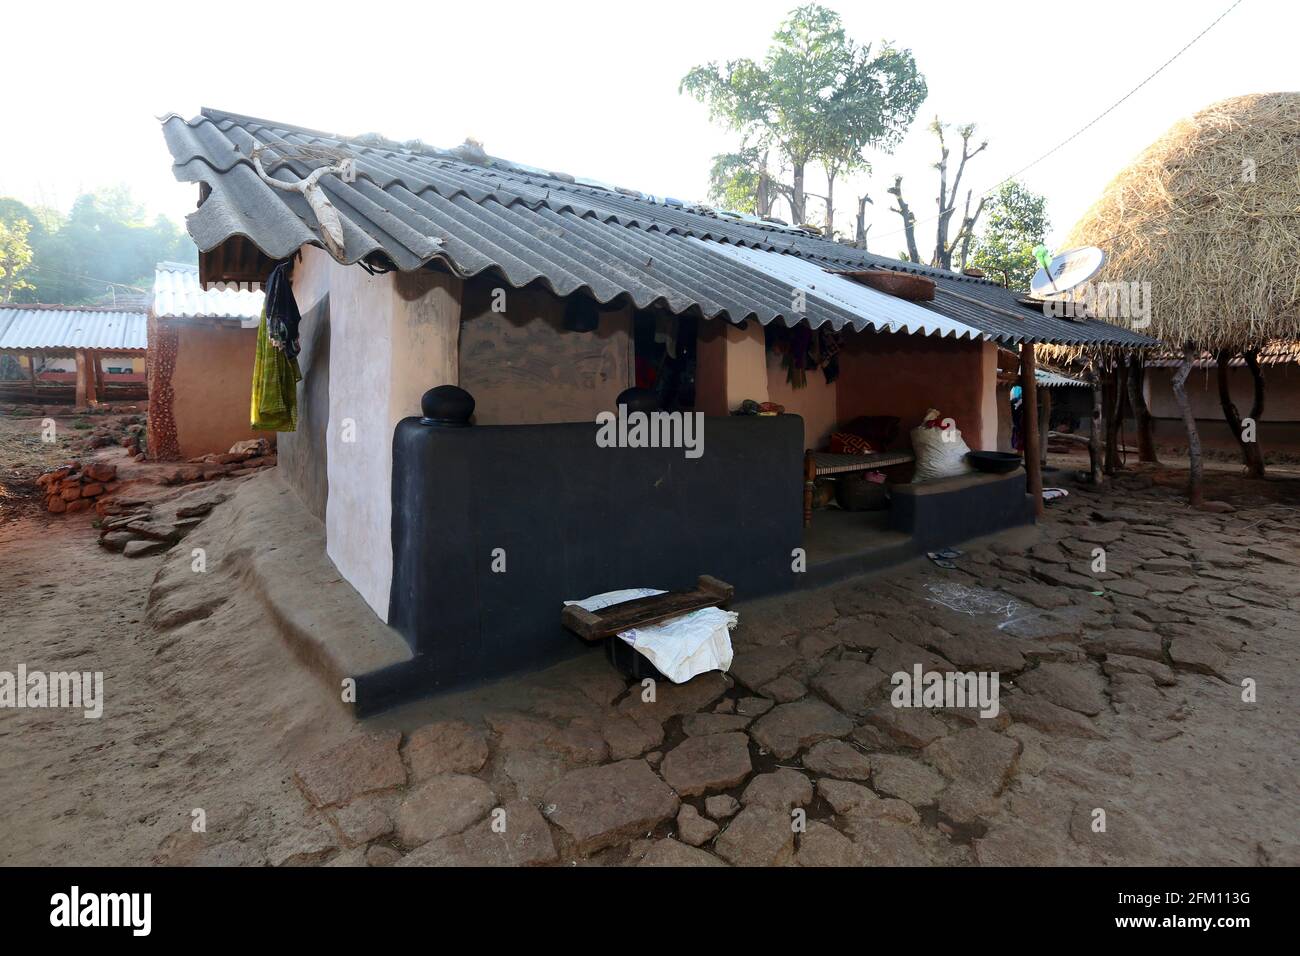
[[[937,408],[994,450],[1000,346],[1032,365],[1036,342],[1148,345],[980,278],[481,151],[212,109],[162,133],[199,183],[203,285],[291,263],[303,381],[280,479],[406,650],[355,675],[363,709],[573,653],[567,598],[701,574],[749,597],[1031,522],[1023,471],[910,484],[909,431]],[[339,172],[316,195],[265,181],[322,165]],[[880,271],[930,297],[859,281]],[[599,446],[629,388],[702,412],[703,454]],[[858,459],[828,447],[854,421],[880,432]],[[893,479],[887,510],[807,514],[818,481],[868,466]]]

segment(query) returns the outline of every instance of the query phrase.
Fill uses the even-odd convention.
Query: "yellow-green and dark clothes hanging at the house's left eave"
[[[287,264],[281,263],[266,280],[266,297],[257,323],[257,351],[252,363],[250,424],[263,432],[298,429],[298,367],[302,315],[294,300]]]

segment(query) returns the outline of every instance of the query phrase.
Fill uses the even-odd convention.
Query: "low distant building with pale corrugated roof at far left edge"
[[[0,306],[0,401],[144,398],[147,339],[143,310]]]

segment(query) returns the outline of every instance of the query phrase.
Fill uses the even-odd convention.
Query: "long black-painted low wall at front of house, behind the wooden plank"
[[[581,653],[559,624],[566,600],[701,574],[746,598],[796,585],[802,419],[706,418],[696,459],[595,436],[594,423],[398,424],[389,624],[416,658],[365,675],[367,708]]]

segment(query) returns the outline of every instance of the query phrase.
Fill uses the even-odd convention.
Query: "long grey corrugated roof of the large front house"
[[[786,325],[803,319],[812,325],[831,321],[835,328],[878,325],[870,310],[884,306],[875,300],[850,307],[810,297],[807,313],[794,313],[789,276],[755,268],[714,245],[725,243],[786,254],[831,271],[887,268],[930,276],[939,284],[935,300],[916,307],[1005,345],[1153,345],[1097,320],[1044,316],[987,280],[502,160],[464,163],[447,151],[406,148],[374,137],[341,138],[213,109],[190,121],[168,116],[162,134],[176,177],[209,190],[187,217],[200,251],[233,237],[247,238],[272,259],[285,259],[304,245],[324,247],[306,199],[263,182],[250,155],[254,144],[269,147],[264,160],[269,168],[295,147],[328,147],[356,161],[355,182],[337,176],[321,179],[342,217],[346,263],[382,258],[411,271],[437,259],[463,277],[490,269],[516,287],[541,282],[559,295],[582,290],[602,303],[625,297],[638,308],[662,304],[675,313],[736,323],[754,317],[764,325],[777,319]],[[292,181],[309,169],[290,157],[272,176]],[[714,243],[684,242],[684,237]],[[859,307],[868,311],[858,312]]]

